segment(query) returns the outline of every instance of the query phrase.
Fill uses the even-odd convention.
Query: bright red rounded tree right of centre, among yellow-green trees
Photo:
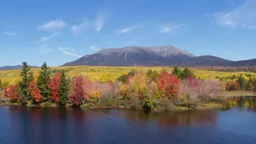
[[[163,93],[163,97],[173,97],[179,88],[179,79],[176,76],[170,76],[168,72],[161,72],[157,78],[157,87]]]

